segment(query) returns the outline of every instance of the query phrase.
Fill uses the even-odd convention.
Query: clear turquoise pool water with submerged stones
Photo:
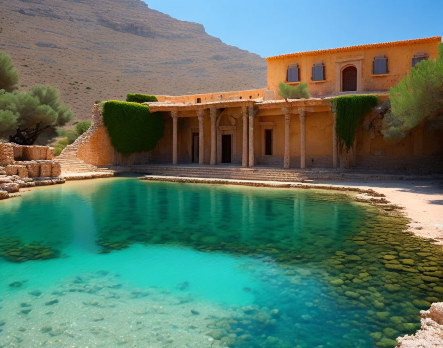
[[[201,347],[394,347],[419,326],[420,309],[443,300],[442,253],[402,232],[404,222],[332,191],[132,177],[37,189],[0,203],[0,347],[38,347],[46,336],[75,343],[68,331],[32,333],[48,307],[29,294],[56,296],[52,326],[70,327],[92,296],[73,285],[90,286],[85,274],[118,279],[94,278],[89,293],[121,291],[113,296],[129,321],[134,291],[155,289],[165,307],[185,297],[203,308],[191,314],[198,320],[218,306],[219,316],[185,326],[204,335]],[[163,327],[176,343],[158,347],[179,347],[177,325]],[[93,337],[91,347],[109,339]]]

